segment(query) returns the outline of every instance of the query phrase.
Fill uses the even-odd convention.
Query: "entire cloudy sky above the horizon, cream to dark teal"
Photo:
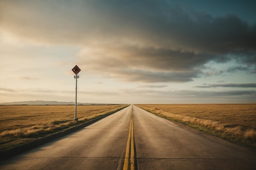
[[[0,0],[0,102],[256,102],[255,0]]]

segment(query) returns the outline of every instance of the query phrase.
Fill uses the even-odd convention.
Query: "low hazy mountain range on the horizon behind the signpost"
[[[77,105],[93,105],[99,103],[77,103]],[[56,102],[56,101],[25,101],[25,102],[5,102],[0,105],[75,105],[75,102]]]

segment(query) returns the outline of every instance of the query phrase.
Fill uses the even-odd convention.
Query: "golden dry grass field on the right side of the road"
[[[256,104],[137,104],[168,119],[256,148]]]

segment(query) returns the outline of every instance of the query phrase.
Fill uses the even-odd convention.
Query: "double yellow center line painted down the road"
[[[135,160],[135,157],[134,157],[133,121],[131,117],[123,170],[134,170],[135,169],[134,160]]]

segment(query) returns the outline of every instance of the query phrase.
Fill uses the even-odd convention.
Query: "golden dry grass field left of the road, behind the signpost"
[[[126,104],[77,106],[79,121],[74,121],[74,106],[1,105],[0,150],[81,124],[124,106]]]

